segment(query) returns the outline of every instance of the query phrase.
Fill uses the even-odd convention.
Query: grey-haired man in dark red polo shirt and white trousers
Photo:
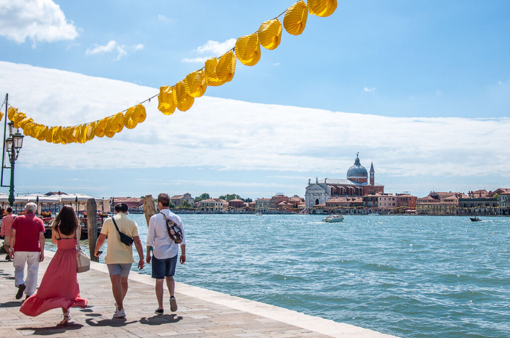
[[[27,203],[26,214],[16,216],[11,226],[9,257],[14,258],[15,286],[18,288],[16,299],[23,296],[23,291],[27,298],[34,294],[39,262],[44,260],[44,223],[35,216],[36,209],[35,203]],[[27,280],[23,281],[25,263],[28,265]]]

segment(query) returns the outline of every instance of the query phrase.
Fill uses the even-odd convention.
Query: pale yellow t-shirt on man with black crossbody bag
[[[131,238],[138,236],[138,226],[134,220],[120,212],[113,217],[115,218],[120,232],[123,232]],[[120,235],[117,229],[115,229],[111,218],[105,219],[101,234],[107,235],[106,239],[108,240],[108,248],[105,257],[106,264],[135,263],[135,258],[133,257],[133,246],[135,243],[131,246],[127,246],[120,241]]]

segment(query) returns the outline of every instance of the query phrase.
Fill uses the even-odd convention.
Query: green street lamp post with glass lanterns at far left
[[[14,127],[13,122],[7,123],[7,106],[8,106],[9,94],[5,96],[5,123],[4,123],[4,144],[2,153],[2,178],[0,179],[0,186],[9,187],[9,205],[14,205],[14,164],[18,159],[19,151],[23,146],[23,134],[19,132],[19,129]],[[9,125],[9,137],[7,135],[7,125]],[[5,152],[7,150],[7,156],[9,156],[9,163],[11,166],[5,165]],[[9,185],[4,185],[4,169],[11,170],[11,181]]]

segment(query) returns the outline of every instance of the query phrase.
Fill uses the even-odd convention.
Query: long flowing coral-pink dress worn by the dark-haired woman
[[[87,299],[80,297],[78,286],[77,255],[76,238],[58,239],[57,252],[44,272],[39,289],[23,302],[19,311],[35,317],[52,308],[85,308]]]

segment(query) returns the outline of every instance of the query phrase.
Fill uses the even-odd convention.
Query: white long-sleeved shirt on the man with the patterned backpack
[[[177,224],[183,233],[183,241],[179,244],[175,242],[168,235],[166,229],[166,221],[161,213],[164,213],[166,218],[171,219]],[[152,255],[157,259],[172,258],[179,252],[179,245],[186,244],[186,237],[184,236],[184,227],[181,217],[177,216],[169,209],[163,209],[156,215],[150,217],[149,227],[147,229],[147,246],[152,246]]]

